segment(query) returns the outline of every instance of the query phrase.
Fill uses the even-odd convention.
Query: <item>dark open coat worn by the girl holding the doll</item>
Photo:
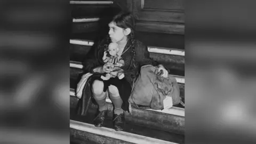
[[[92,51],[90,54],[86,55],[86,59],[83,62],[83,70],[84,73],[92,73],[92,75],[84,86],[82,98],[79,101],[78,105],[78,113],[85,115],[89,103],[91,102],[92,92],[91,92],[91,84],[95,79],[101,80],[99,77],[102,74],[94,73],[93,69],[99,66],[103,66],[105,63],[102,61],[103,52],[105,50],[104,44],[106,43],[106,39],[103,39],[101,43],[97,44],[96,46],[92,47]],[[142,42],[135,39],[134,41],[134,48],[135,48],[135,67],[130,67],[131,60],[132,60],[132,42],[129,39],[127,44],[125,45],[124,51],[127,51],[121,55],[124,59],[125,64],[122,67],[124,70],[125,77],[122,81],[117,81],[117,78],[111,78],[112,80],[108,82],[104,82],[105,90],[106,86],[108,85],[115,85],[119,91],[120,97],[123,100],[122,109],[128,110],[129,109],[129,102],[128,99],[131,95],[132,84],[135,78],[138,76],[138,71],[140,70],[141,66],[143,65],[153,65],[157,66],[158,62],[151,59],[149,57],[148,47],[144,45]],[[130,69],[129,69],[130,68]]]

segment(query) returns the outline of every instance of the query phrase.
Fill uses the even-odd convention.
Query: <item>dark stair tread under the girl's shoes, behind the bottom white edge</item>
[[[93,118],[94,118],[93,114],[89,113],[85,117],[85,116],[76,115],[75,113],[73,113],[73,111],[75,111],[75,109],[70,108],[70,119],[72,119],[74,121],[78,121],[78,122],[93,124]],[[107,117],[103,126],[109,128],[109,129],[113,129],[112,119]],[[130,123],[126,122],[126,126],[123,131],[128,132],[128,133],[143,135],[145,137],[150,137],[150,138],[155,138],[155,139],[160,139],[160,140],[165,140],[165,141],[171,141],[171,142],[175,142],[175,143],[184,143],[184,138],[185,138],[185,136],[182,134],[176,134],[176,133],[151,129],[146,126],[132,124],[131,122]]]

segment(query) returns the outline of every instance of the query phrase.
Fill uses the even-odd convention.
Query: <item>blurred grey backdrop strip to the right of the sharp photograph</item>
[[[255,1],[186,1],[186,143],[255,143]]]

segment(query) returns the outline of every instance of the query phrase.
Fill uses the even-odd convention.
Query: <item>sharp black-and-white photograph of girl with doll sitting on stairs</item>
[[[70,6],[70,143],[185,143],[184,1]]]

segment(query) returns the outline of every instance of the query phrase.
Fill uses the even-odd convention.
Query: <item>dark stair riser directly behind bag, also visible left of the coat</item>
[[[82,69],[70,68],[70,88],[75,89],[77,83],[79,82],[83,74]],[[185,84],[178,83],[180,87],[180,97],[182,101],[185,101]]]

